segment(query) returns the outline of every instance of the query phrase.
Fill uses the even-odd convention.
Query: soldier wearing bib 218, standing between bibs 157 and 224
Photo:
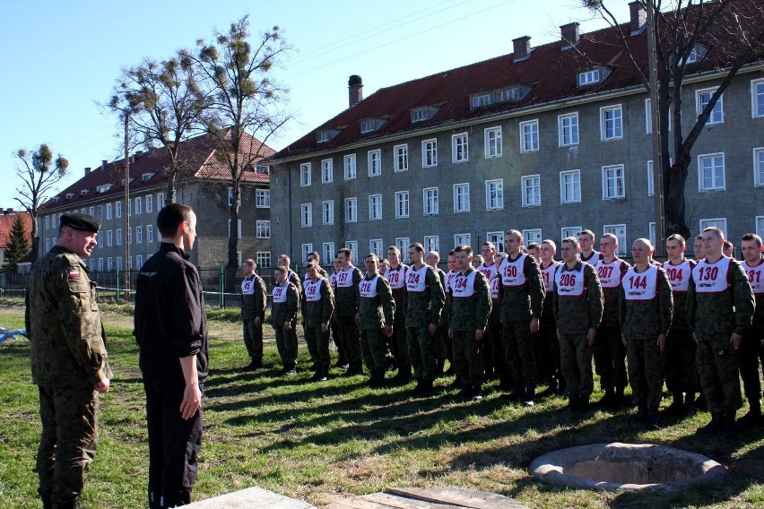
[[[356,286],[358,314],[355,323],[360,331],[360,348],[369,368],[369,387],[385,386],[386,338],[393,335],[395,299],[390,284],[379,275],[379,259],[366,255],[366,276]]]

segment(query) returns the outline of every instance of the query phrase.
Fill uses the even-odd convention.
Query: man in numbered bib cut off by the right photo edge
[[[749,407],[743,419],[753,424],[762,424],[759,367],[764,363],[764,255],[761,237],[755,233],[746,233],[740,240],[740,251],[742,270],[748,276],[756,300],[753,322],[742,333],[740,341],[740,375]]]

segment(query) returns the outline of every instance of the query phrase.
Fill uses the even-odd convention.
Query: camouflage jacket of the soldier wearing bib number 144
[[[648,269],[649,271],[649,269]],[[647,340],[666,334],[671,327],[673,298],[671,284],[662,267],[656,267],[655,298],[628,300],[626,283],[621,285],[618,301],[621,335],[627,339]],[[629,274],[637,273],[636,269]]]

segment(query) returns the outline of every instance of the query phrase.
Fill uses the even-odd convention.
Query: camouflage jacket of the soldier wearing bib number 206
[[[554,296],[552,306],[554,318],[557,321],[557,330],[563,334],[584,334],[589,329],[599,327],[603,318],[603,290],[600,280],[597,278],[594,265],[585,262],[577,262],[573,271],[577,272],[583,265],[584,270],[584,293],[580,296],[562,296],[557,291],[557,282],[554,283]],[[570,272],[568,264],[563,263],[558,274]]]

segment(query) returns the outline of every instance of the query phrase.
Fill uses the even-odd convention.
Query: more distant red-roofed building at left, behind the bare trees
[[[239,266],[242,259],[256,258],[265,266],[271,263],[271,192],[269,170],[265,164],[247,168],[241,178],[239,221],[230,224],[232,187],[230,169],[215,157],[206,135],[184,143],[184,169],[178,177],[176,201],[196,212],[197,240],[190,260],[203,268],[217,268],[228,260],[230,228],[238,232]],[[256,142],[258,143],[258,142]],[[273,154],[260,149],[265,157]],[[127,242],[130,267],[140,269],[156,252],[161,235],[156,227],[157,212],[164,206],[169,154],[164,149],[137,152],[130,157],[130,196],[125,211],[125,161],[102,161],[99,168],[85,168],[84,177],[53,196],[39,214],[40,249],[46,252],[56,244],[58,221],[65,212],[90,213],[101,221],[98,246],[87,260],[91,270],[122,270],[125,253],[125,213],[130,227]]]

